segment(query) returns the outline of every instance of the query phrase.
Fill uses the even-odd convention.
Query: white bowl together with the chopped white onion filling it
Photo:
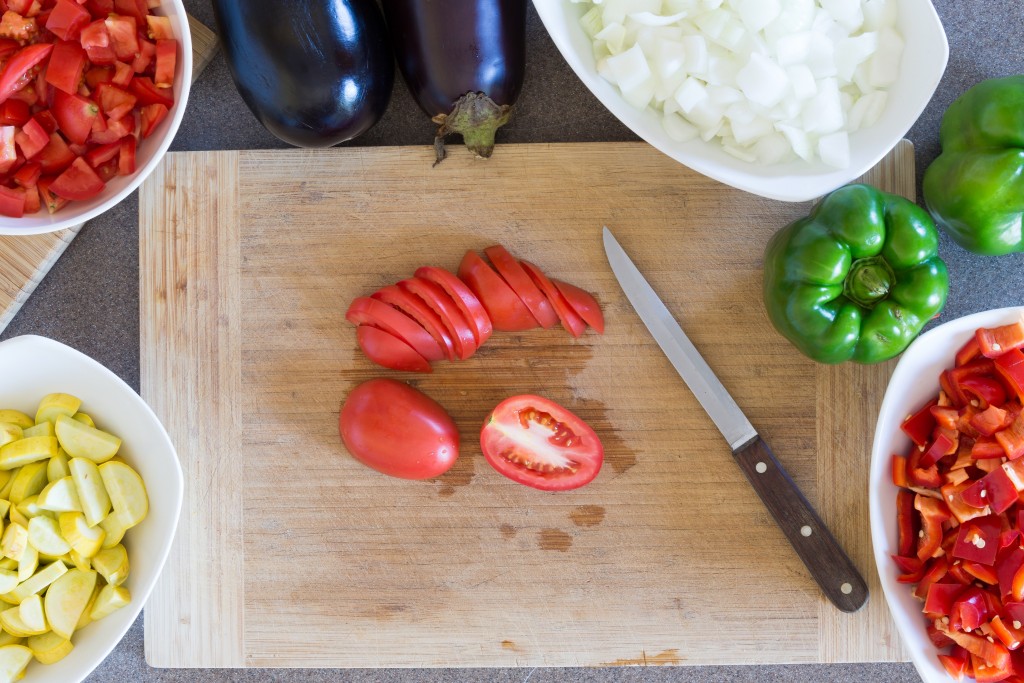
[[[804,202],[857,178],[945,71],[930,0],[534,0],[594,95],[681,164]]]

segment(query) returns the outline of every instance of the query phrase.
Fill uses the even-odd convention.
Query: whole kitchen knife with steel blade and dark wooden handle
[[[626,298],[725,436],[739,469],[825,596],[843,611],[860,609],[867,585],[857,568],[607,227],[604,253]]]

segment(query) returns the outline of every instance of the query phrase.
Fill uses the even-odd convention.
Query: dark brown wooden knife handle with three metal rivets
[[[845,612],[860,609],[867,585],[768,444],[758,436],[733,456],[825,596]]]

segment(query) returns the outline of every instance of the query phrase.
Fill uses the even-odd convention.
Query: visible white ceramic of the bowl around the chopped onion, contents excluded
[[[598,75],[591,41],[580,26],[587,5],[569,0],[534,0],[534,6],[577,76],[634,133],[679,163],[727,185],[769,199],[804,202],[850,182],[874,166],[925,111],[942,78],[949,46],[931,0],[898,2],[898,27],[906,44],[899,80],[889,90],[889,104],[879,122],[851,135],[850,166],[845,169],[821,162],[748,164],[726,154],[716,141],[676,142],[662,127],[659,115],[631,106],[615,86]]]

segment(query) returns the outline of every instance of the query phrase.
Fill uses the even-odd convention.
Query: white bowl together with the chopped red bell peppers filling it
[[[1024,308],[904,351],[871,453],[874,561],[926,681],[1024,681]]]

